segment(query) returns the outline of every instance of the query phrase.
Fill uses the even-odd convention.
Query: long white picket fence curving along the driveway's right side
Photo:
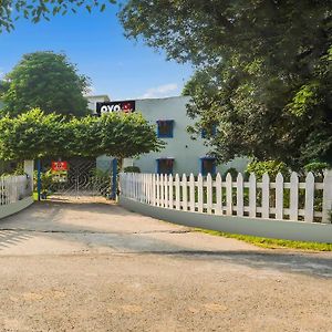
[[[236,179],[228,174],[225,180],[220,174],[215,179],[193,174],[121,174],[121,195],[189,212],[331,224],[332,174],[326,172],[323,181],[315,181],[309,173],[304,183],[297,173],[290,181],[281,174],[276,181],[267,174],[261,181],[253,174],[248,181],[241,174]]]

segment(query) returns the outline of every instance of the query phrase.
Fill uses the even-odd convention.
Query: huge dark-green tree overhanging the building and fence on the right
[[[128,38],[196,66],[191,132],[210,133],[220,162],[332,165],[331,1],[129,0],[121,20]]]

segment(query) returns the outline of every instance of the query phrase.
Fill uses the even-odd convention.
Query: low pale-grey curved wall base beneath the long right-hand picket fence
[[[123,196],[120,196],[118,201],[131,211],[188,227],[264,238],[332,243],[331,224],[186,212],[151,206]]]

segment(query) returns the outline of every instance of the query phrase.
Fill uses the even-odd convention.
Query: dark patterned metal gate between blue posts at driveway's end
[[[50,163],[49,163],[50,164]],[[74,158],[68,160],[66,175],[54,176],[46,164],[41,175],[41,197],[48,196],[104,196],[112,197],[114,165],[112,159]]]

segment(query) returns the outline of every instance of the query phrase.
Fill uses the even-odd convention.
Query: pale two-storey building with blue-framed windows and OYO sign
[[[194,121],[187,116],[187,96],[176,96],[166,98],[146,98],[121,102],[108,102],[105,95],[89,97],[90,107],[93,113],[128,111],[141,112],[151,123],[156,125],[158,137],[166,142],[166,146],[159,153],[141,155],[135,159],[126,159],[125,166],[137,166],[142,173],[162,174],[224,174],[228,168],[235,167],[239,172],[245,170],[248,160],[236,158],[225,164],[216,165],[214,158],[208,156],[208,147],[204,145],[204,139],[198,137],[191,139],[187,133],[187,126]],[[110,160],[110,157],[97,158],[100,164]]]

